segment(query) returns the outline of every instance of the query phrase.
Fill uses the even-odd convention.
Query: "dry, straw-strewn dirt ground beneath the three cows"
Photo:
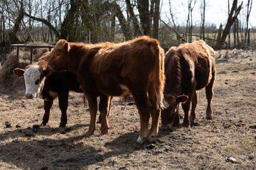
[[[26,100],[24,90],[0,93],[0,169],[255,170],[256,51],[217,51],[216,61],[213,120],[205,119],[202,89],[199,126],[159,128],[155,146],[136,142],[137,108],[120,98],[112,102],[109,134],[100,135],[98,124],[95,136],[87,136],[90,116],[81,94],[70,93],[66,128],[59,128],[56,100],[48,125],[38,129],[41,99]]]

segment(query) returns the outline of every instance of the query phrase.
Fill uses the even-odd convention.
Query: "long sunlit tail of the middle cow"
[[[164,85],[165,85],[164,51],[160,47],[157,40],[156,40],[156,43],[153,43],[153,44],[152,45],[153,45],[153,48],[155,49],[155,54],[156,54],[155,71],[156,71],[157,108],[162,109],[166,107],[163,102],[164,101],[163,91],[164,91]]]

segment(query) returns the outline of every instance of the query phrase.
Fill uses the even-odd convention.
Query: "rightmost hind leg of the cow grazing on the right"
[[[205,87],[205,94],[206,94],[206,99],[207,99],[206,119],[208,119],[208,120],[213,119],[211,102],[212,102],[213,95],[214,95],[214,89],[213,89],[214,80],[215,80],[215,73],[213,73],[213,77],[212,77],[209,85],[207,85]]]

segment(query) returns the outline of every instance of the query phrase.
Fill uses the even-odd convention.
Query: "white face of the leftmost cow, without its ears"
[[[27,68],[24,72],[24,80],[26,86],[25,97],[27,99],[33,99],[40,93],[42,69],[38,65]]]

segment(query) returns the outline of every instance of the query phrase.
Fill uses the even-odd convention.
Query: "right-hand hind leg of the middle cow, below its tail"
[[[161,110],[157,108],[157,96],[156,96],[156,90],[155,90],[155,84],[152,83],[149,86],[148,89],[148,96],[149,100],[152,104],[151,106],[151,128],[150,128],[150,133],[148,136],[148,141],[149,142],[156,142],[157,141],[157,136],[158,136],[158,125],[159,125],[159,117]]]

